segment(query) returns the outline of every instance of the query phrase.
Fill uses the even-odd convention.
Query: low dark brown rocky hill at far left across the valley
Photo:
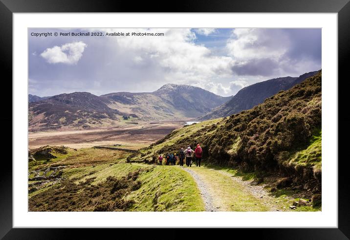
[[[73,92],[52,96],[40,102],[29,103],[29,129],[49,130],[63,126],[89,127],[106,120],[117,120],[122,115],[110,109],[109,100],[88,92]],[[90,125],[88,125],[90,124]]]

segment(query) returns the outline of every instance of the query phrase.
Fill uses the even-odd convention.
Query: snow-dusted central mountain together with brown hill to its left
[[[130,121],[196,118],[228,99],[200,87],[175,84],[154,92],[60,94],[29,103],[29,130],[115,125],[123,116],[131,116]]]

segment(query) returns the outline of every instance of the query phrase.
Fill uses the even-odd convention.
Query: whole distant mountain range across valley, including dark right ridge
[[[51,97],[28,95],[29,131],[113,126],[125,122],[214,119],[251,109],[316,74],[270,79],[222,97],[200,87],[166,84],[153,92],[88,92]]]

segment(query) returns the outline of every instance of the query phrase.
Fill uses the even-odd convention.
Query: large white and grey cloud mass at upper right
[[[237,75],[283,76],[321,68],[321,29],[238,28],[226,48]]]

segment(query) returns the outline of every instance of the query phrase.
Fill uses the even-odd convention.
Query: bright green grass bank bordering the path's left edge
[[[197,184],[184,170],[157,166],[143,173],[142,186],[128,199],[135,201],[130,211],[204,211]]]

